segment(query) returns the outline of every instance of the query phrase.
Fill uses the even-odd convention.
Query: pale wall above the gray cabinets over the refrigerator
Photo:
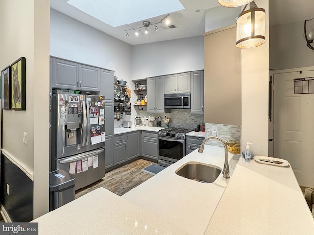
[[[50,13],[50,55],[115,71],[118,80],[127,81],[131,90],[131,45],[83,24],[54,9]],[[135,102],[136,96],[132,96]],[[134,120],[134,107],[131,116]],[[122,121],[115,120],[115,127]]]

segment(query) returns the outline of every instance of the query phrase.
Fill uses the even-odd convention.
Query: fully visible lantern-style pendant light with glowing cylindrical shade
[[[236,18],[236,47],[251,48],[265,42],[265,9],[258,8],[254,1],[250,9],[244,7]]]

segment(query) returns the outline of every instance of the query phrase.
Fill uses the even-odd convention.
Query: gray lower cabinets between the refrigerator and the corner
[[[120,164],[140,155],[139,131],[114,135],[114,164]]]

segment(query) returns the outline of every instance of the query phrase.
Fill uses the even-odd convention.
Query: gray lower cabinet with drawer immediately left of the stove
[[[158,132],[142,131],[141,152],[143,157],[158,159]]]

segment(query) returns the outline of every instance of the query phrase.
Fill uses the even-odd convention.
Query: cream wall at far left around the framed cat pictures
[[[26,111],[3,110],[2,152],[34,181],[34,218],[49,208],[49,5],[0,1],[0,68],[26,58]]]

